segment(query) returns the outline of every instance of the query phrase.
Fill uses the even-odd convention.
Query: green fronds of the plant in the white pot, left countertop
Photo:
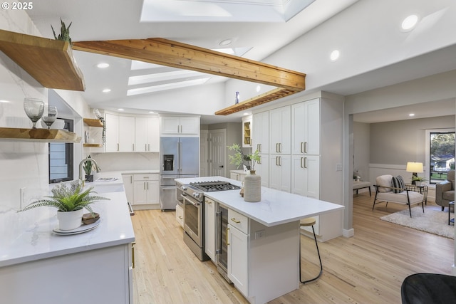
[[[62,212],[76,211],[86,208],[91,214],[94,214],[90,204],[93,204],[95,201],[107,199],[103,196],[90,195],[92,193],[96,193],[92,191],[93,187],[83,190],[83,183],[79,179],[68,184],[58,184],[51,190],[53,194],[52,196],[44,196],[46,199],[33,201],[33,203],[28,204],[24,207],[24,209],[21,209],[18,212],[41,206],[51,206]]]

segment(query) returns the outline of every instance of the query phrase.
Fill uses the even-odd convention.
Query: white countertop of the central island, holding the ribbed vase
[[[226,181],[232,184],[241,185],[241,182],[226,177],[199,177],[191,179],[176,179],[181,184],[190,182]],[[307,217],[325,214],[334,211],[343,211],[345,208],[339,204],[328,201],[312,199],[310,197],[291,194],[275,189],[261,187],[261,201],[250,203],[244,201],[239,190],[228,190],[219,192],[205,192],[204,196],[219,201],[230,209],[244,214],[265,226],[276,226],[299,221]]]

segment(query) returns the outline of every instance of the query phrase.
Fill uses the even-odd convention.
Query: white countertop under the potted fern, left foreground
[[[55,208],[39,207],[20,213],[0,210],[0,267],[135,241],[125,192],[98,195],[110,199],[92,205],[93,211],[100,214],[100,225],[70,236],[53,234],[58,226]]]

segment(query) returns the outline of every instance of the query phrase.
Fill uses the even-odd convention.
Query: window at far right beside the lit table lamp
[[[436,184],[447,178],[447,172],[455,169],[455,131],[429,130],[427,132],[429,170],[427,179]]]

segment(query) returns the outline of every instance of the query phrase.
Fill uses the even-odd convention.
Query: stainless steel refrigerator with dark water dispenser
[[[199,176],[199,137],[160,137],[160,209],[175,210],[174,179]]]

